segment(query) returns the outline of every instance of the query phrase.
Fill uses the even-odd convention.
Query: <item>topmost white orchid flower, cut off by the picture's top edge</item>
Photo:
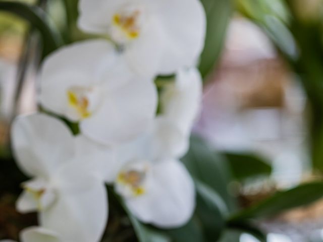
[[[198,0],[80,0],[79,27],[108,34],[141,74],[168,75],[194,66],[206,20]]]

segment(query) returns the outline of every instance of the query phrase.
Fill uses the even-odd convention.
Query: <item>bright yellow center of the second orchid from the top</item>
[[[91,115],[89,108],[89,99],[86,96],[78,95],[76,92],[68,91],[69,104],[76,109],[82,118],[87,118]]]

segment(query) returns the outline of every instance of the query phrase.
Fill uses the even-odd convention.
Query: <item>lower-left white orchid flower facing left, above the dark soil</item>
[[[99,241],[108,212],[105,175],[97,169],[111,157],[96,156],[95,145],[87,148],[91,154],[83,155],[81,147],[90,145],[84,139],[73,137],[63,122],[45,114],[18,117],[12,127],[17,163],[33,177],[23,184],[18,211],[39,211],[41,226],[73,242]]]

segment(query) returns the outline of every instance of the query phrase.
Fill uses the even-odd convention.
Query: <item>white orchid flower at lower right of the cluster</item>
[[[177,159],[186,149],[183,140],[176,126],[156,118],[144,135],[119,147],[115,176],[108,181],[114,181],[116,192],[142,222],[171,228],[192,216],[193,180]]]

